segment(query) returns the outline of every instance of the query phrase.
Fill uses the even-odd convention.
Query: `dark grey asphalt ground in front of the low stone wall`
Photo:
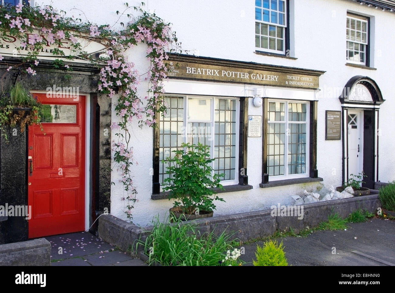
[[[349,223],[346,231],[316,231],[308,237],[278,238],[284,244],[288,265],[299,266],[395,266],[395,221],[372,218]],[[241,259],[252,265],[256,246],[243,245]],[[336,254],[334,254],[334,248]]]

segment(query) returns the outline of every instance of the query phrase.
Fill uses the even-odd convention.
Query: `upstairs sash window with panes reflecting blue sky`
[[[255,47],[285,54],[286,0],[255,1]]]

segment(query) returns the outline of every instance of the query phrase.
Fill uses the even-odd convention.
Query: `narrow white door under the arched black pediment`
[[[348,178],[363,171],[363,111],[348,111]]]

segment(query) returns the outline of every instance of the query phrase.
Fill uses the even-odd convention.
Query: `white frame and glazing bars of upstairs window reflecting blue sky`
[[[254,0],[255,1],[255,0]],[[263,2],[263,0],[261,0],[262,2]],[[278,10],[272,10],[271,9],[271,0],[269,0],[269,9],[266,9],[266,8],[263,8],[263,7],[258,7],[258,6],[255,6],[255,4],[254,4],[254,12],[255,12],[255,9],[256,8],[260,8],[261,10],[263,10],[263,9],[265,9],[265,10],[269,10],[269,21],[267,22],[267,21],[263,21],[263,16],[262,16],[262,14],[261,14],[261,16],[262,16],[262,20],[260,21],[260,20],[257,20],[257,19],[255,19],[255,26],[256,26],[256,23],[260,23],[260,24],[267,24],[267,25],[269,25],[269,26],[275,26],[276,27],[276,31],[277,31],[277,27],[281,27],[282,28],[282,50],[277,50],[277,49],[269,49],[269,48],[263,48],[263,47],[256,47],[256,44],[255,44],[255,49],[257,50],[257,51],[265,51],[265,52],[268,52],[268,53],[275,53],[275,54],[285,54],[286,53],[286,29],[287,29],[287,23],[288,23],[288,21],[287,21],[287,19],[288,19],[288,11],[287,11],[287,7],[288,7],[288,5],[287,5],[287,1],[289,1],[289,0],[282,0],[282,1],[284,1],[284,11],[285,11],[285,14],[284,14],[284,24],[278,24],[278,23],[271,23],[270,22],[270,20],[271,20],[271,11],[276,11],[277,13],[280,13],[280,11],[278,11]],[[278,9],[278,0],[277,0],[277,9]],[[277,18],[278,19],[278,18]],[[278,21],[277,21],[278,22]],[[261,25],[260,25],[260,27],[261,27]],[[256,29],[256,28],[255,28]],[[269,35],[270,33],[269,33],[269,28],[268,28],[268,35]],[[256,34],[256,32],[255,32],[255,36],[258,36],[258,34]],[[260,33],[259,33],[259,36],[260,36],[260,44],[261,44],[261,37],[262,36],[265,36],[265,35],[262,35],[261,34],[261,28],[260,28]],[[267,38],[268,38],[268,47],[270,47],[270,40],[269,40],[269,36],[267,36]],[[276,43],[276,47],[277,47],[277,39],[280,39],[280,38],[277,38],[277,34],[276,34],[276,36],[275,36],[275,43]]]

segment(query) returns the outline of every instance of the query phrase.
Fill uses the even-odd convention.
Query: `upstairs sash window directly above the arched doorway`
[[[369,66],[369,18],[347,14],[346,59],[350,63]]]

